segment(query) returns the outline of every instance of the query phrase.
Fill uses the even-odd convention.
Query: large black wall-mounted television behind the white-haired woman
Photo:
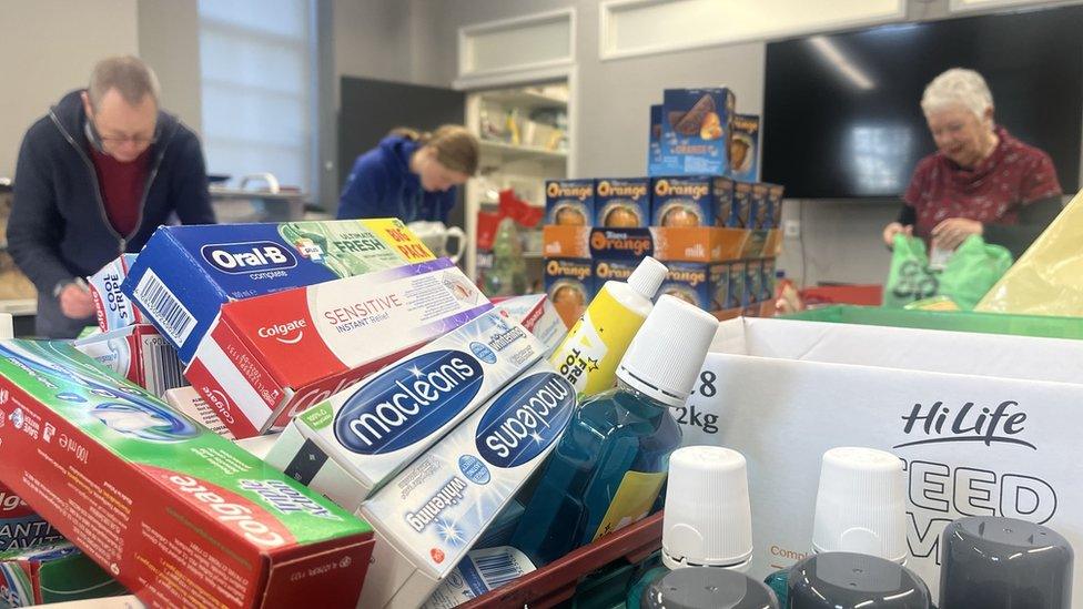
[[[935,151],[919,102],[940,72],[971,68],[995,119],[1047,152],[1079,190],[1083,7],[884,26],[771,42],[762,179],[787,197],[899,197]]]

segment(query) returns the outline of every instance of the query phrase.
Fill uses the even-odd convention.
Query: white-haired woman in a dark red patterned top
[[[993,95],[973,70],[952,68],[925,87],[921,110],[937,143],[883,230],[890,247],[905,233],[953,251],[970,235],[1019,257],[1061,211],[1061,184],[1049,154],[993,122]]]

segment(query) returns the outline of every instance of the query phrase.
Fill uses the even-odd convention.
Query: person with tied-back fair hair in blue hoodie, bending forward
[[[393,130],[354,162],[338,200],[338,219],[439,221],[455,205],[455,187],[477,171],[477,139],[466,128],[419,133]]]

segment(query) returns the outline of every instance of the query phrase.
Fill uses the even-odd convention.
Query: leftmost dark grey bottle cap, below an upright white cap
[[[669,571],[650,585],[642,609],[779,609],[775,592],[745,574],[717,567]]]

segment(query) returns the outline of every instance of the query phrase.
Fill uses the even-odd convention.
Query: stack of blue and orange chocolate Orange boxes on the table
[[[567,323],[644,255],[670,270],[662,294],[725,317],[769,308],[783,187],[758,182],[760,120],[733,109],[728,89],[667,89],[648,177],[546,183],[545,287]]]

